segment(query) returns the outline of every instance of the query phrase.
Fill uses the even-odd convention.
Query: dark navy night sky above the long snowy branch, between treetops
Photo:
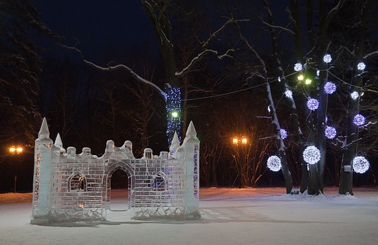
[[[34,4],[46,26],[64,38],[60,43],[75,45],[79,40],[77,47],[90,60],[101,59],[99,55],[110,46],[127,49],[153,38],[141,1],[39,0]]]

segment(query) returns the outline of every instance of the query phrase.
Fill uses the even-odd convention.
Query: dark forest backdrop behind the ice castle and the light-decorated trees
[[[14,2],[15,5],[11,6],[13,3],[0,0],[1,6],[9,5],[9,8],[3,8],[5,11],[0,10],[1,20],[4,20],[0,25],[0,192],[14,191],[15,176],[17,191],[31,191],[34,140],[43,117],[48,121],[50,138],[55,140],[59,133],[63,147],[76,147],[78,154],[83,147],[90,147],[92,154],[101,156],[107,140],[114,140],[117,146],[121,146],[125,140],[132,141],[136,157],[141,157],[146,147],[153,149],[155,155],[158,155],[159,151],[169,149],[165,101],[160,94],[146,84],[137,82],[125,70],[104,72],[88,66],[78,52],[62,46],[75,46],[79,50],[85,50],[80,38],[77,40],[74,36],[60,36],[53,27],[44,26],[43,13],[41,17],[38,11],[34,12],[33,6],[23,5],[21,1]],[[258,56],[253,54],[251,48],[242,40],[246,38],[248,45],[257,50],[261,59],[265,60],[267,80],[272,88],[281,128],[288,131],[288,138],[284,140],[288,169],[293,177],[294,186],[299,186],[302,177],[300,145],[293,133],[294,128],[290,120],[293,111],[285,101],[285,91],[278,79],[281,71],[274,58],[274,52],[278,52],[281,68],[284,69],[293,93],[303,93],[296,85],[297,75],[292,75],[293,66],[298,62],[297,47],[300,47],[290,34],[290,31],[295,30],[291,18],[295,13],[290,12],[293,5],[290,6],[288,3],[286,6],[276,3],[277,1],[271,3],[279,49],[274,51],[265,5],[270,1],[161,2],[169,3],[169,21],[172,25],[177,70],[189,66],[193,58],[202,52],[209,34],[222,27],[225,22],[230,23],[216,33],[216,40],[211,40],[211,50],[217,50],[219,54],[225,53],[225,50],[232,50],[228,52],[228,57],[218,59],[214,54],[204,56],[189,73],[178,80],[183,95],[181,133],[185,133],[186,126],[193,121],[197,137],[201,141],[201,185],[285,186],[282,172],[272,172],[267,168],[267,158],[276,154],[280,146],[276,142],[274,126],[269,117],[270,104],[265,82],[260,79],[262,66]],[[301,10],[309,9],[306,4],[308,1],[299,2]],[[317,6],[318,1],[314,2],[314,6]],[[338,1],[325,2],[328,4],[326,8],[332,10]],[[365,1],[353,1],[357,2]],[[331,24],[332,35],[329,36],[328,50],[324,50],[332,54],[332,74],[335,75],[334,79],[338,78],[335,83],[339,86],[337,95],[328,99],[327,115],[332,125],[337,126],[340,135],[345,135],[347,130],[347,82],[352,77],[351,67],[354,62],[353,50],[350,50],[349,44],[356,39],[349,27],[356,22],[351,18],[356,15],[354,7],[355,5],[344,6],[337,12]],[[372,12],[377,12],[375,3],[372,3],[370,8]],[[28,27],[27,23],[30,20],[25,20],[20,11],[31,13],[30,16],[38,22],[37,27]],[[321,17],[318,16],[316,8],[313,11],[314,20]],[[10,21],[10,16],[13,16],[13,21],[17,20],[21,24],[16,25]],[[148,18],[147,15],[144,18]],[[373,32],[374,28],[376,29],[374,23],[377,23],[374,18],[371,14],[368,24],[363,27],[365,54],[378,49],[377,34]],[[348,25],[342,24],[346,20],[349,20]],[[15,25],[26,31],[12,28]],[[302,28],[305,32],[303,36],[311,35],[308,27]],[[126,64],[144,79],[153,81],[158,87],[163,88],[167,82],[165,67],[157,51],[155,34],[151,29],[144,31],[148,33],[146,36],[153,38],[145,37],[132,43],[127,43],[127,40],[125,43],[120,40],[114,40],[112,43],[108,40],[102,49],[91,50],[90,53],[83,51],[83,55],[90,57],[90,61],[95,64],[105,64],[104,66]],[[39,34],[40,32],[43,34]],[[9,40],[9,37],[13,39]],[[15,41],[16,39],[18,41]],[[305,43],[303,46],[309,49],[314,45],[307,40],[302,42]],[[27,48],[20,43],[26,43]],[[41,46],[41,49],[36,44]],[[308,51],[308,54],[311,52]],[[306,62],[312,57],[320,59],[323,53],[311,54],[309,57],[306,51],[302,59]],[[30,62],[29,66],[22,63],[25,60]],[[365,94],[360,99],[360,112],[365,112],[367,120],[372,124],[360,130],[360,138],[363,140],[358,142],[358,152],[369,158],[370,170],[363,175],[353,174],[354,186],[376,185],[378,174],[378,128],[375,124],[378,86],[377,76],[374,76],[377,74],[377,70],[374,69],[377,59],[366,59],[365,63],[367,73],[363,78],[363,86],[370,91],[364,90]],[[31,64],[38,64],[38,67]],[[317,92],[314,90],[312,93]],[[303,132],[307,131],[306,101],[307,97],[295,97],[298,121]],[[232,139],[241,136],[247,138],[246,144],[233,144]],[[342,141],[342,138],[335,138],[326,142],[325,186],[339,185]],[[25,150],[22,154],[9,154],[8,147],[11,145],[20,145],[25,147]]]

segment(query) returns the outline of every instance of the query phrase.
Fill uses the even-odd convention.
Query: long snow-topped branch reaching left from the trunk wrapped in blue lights
[[[128,67],[128,66],[125,66],[123,64],[118,64],[116,66],[99,66],[97,64],[94,64],[93,62],[91,61],[87,61],[84,56],[83,56],[83,53],[78,50],[77,47],[69,47],[69,46],[66,46],[66,45],[62,45],[62,44],[59,44],[60,46],[62,47],[66,47],[67,49],[69,50],[75,50],[76,52],[78,52],[80,54],[80,57],[81,59],[84,61],[85,64],[87,65],[90,65],[98,70],[103,70],[103,71],[112,71],[112,70],[118,70],[118,69],[123,69],[123,70],[127,70],[128,73],[130,73],[130,75],[132,75],[132,77],[134,77],[135,80],[137,80],[138,82],[141,82],[141,83],[144,83],[146,84],[147,86],[149,87],[152,87],[153,89],[155,89],[156,91],[159,92],[159,94],[166,100],[167,99],[167,94],[165,94],[165,91],[162,91],[162,89],[160,89],[160,87],[158,87],[156,84],[154,84],[153,82],[151,81],[148,81],[146,79],[144,79],[143,77],[141,77],[140,75],[138,75],[137,73],[134,72],[134,70],[132,70],[132,68]]]

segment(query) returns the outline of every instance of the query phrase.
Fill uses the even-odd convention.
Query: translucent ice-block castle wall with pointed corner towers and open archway
[[[170,151],[144,157],[132,154],[132,143],[122,147],[106,142],[103,156],[83,148],[65,150],[59,135],[53,143],[46,120],[36,140],[31,223],[106,221],[111,202],[111,175],[124,170],[129,178],[129,209],[134,219],[200,218],[200,141],[190,122],[183,144],[172,140]]]

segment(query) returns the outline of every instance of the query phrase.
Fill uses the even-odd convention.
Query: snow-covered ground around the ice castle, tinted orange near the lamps
[[[0,194],[0,244],[378,244],[378,188],[354,196],[201,188],[198,221],[134,221],[113,190],[108,223],[31,225],[31,193]]]

